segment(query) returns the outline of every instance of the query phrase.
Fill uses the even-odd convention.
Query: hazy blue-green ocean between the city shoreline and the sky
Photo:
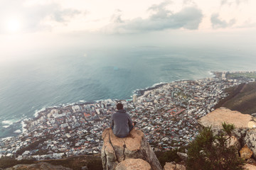
[[[129,99],[137,89],[210,71],[255,70],[255,52],[177,47],[124,47],[34,56],[0,63],[0,137],[18,135],[25,118],[50,106]]]

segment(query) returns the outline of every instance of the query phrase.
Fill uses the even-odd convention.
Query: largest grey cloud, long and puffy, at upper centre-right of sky
[[[170,1],[164,1],[159,5],[151,6],[148,11],[153,14],[149,18],[134,18],[122,20],[122,13],[118,11],[112,17],[112,23],[104,28],[107,33],[138,33],[144,31],[166,30],[185,28],[198,29],[203,14],[199,8],[186,7],[176,13],[166,8]],[[114,19],[113,19],[114,18]]]

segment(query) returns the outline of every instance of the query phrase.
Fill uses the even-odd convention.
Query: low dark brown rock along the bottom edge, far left
[[[18,164],[6,170],[20,170],[20,169],[30,169],[30,170],[71,170],[63,166],[53,166],[46,162],[40,162],[37,164]]]

